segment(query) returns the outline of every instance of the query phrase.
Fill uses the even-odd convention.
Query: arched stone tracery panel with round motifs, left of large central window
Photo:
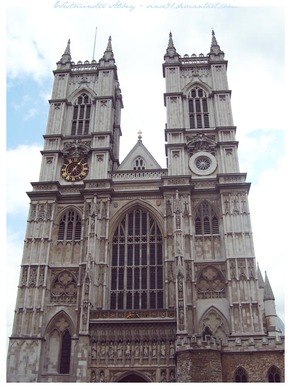
[[[51,288],[50,302],[76,302],[77,285],[71,273],[63,271]]]

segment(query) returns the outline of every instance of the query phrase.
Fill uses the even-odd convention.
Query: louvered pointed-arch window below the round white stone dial
[[[218,219],[213,208],[209,204],[202,204],[195,215],[195,234],[214,235],[219,234]]]

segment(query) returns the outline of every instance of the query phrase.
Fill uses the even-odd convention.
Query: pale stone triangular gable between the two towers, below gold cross
[[[152,169],[162,169],[159,163],[154,159],[150,154],[147,148],[143,145],[142,141],[138,141],[136,145],[129,151],[129,154],[118,166],[117,170],[137,170],[133,169],[135,166],[135,161],[137,159],[143,159],[144,161],[144,170]]]

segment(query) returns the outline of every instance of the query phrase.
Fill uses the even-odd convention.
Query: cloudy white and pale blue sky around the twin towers
[[[75,4],[87,8],[65,8],[73,0],[6,4],[7,336],[12,332],[29,210],[26,192],[39,177],[52,71],[69,38],[72,60],[91,62],[96,27],[95,59],[103,56],[111,35],[123,96],[119,160],[135,145],[141,130],[144,145],[162,167],[166,167],[162,63],[169,32],[177,52],[191,56],[209,53],[211,29],[215,31],[228,61],[240,171],[252,182],[249,208],[256,260],[263,277],[267,272],[277,314],[284,321],[286,213],[283,200],[277,201],[285,190],[286,163],[284,2],[255,0],[249,4],[256,6],[246,6],[247,1],[230,1],[224,3],[227,7],[207,8],[210,1],[204,0],[81,1]],[[118,8],[125,3],[131,8]]]

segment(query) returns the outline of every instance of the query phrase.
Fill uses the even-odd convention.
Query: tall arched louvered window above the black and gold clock
[[[91,100],[85,93],[75,101],[71,135],[88,135],[91,116]]]

